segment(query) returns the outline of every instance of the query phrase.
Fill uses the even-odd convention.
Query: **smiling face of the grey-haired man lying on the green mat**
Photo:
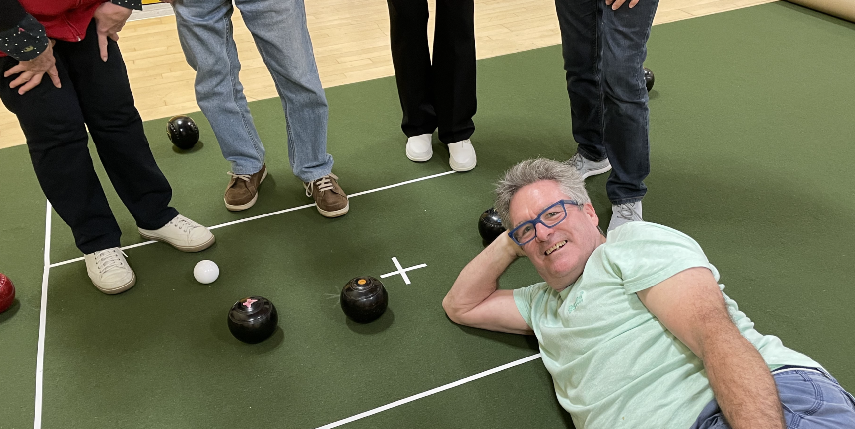
[[[520,188],[510,200],[510,220],[514,227],[536,218],[546,207],[559,200],[570,200],[557,182],[539,181]],[[575,282],[591,253],[603,244],[599,220],[591,203],[581,208],[567,206],[567,217],[552,228],[539,223],[537,238],[522,246],[546,283],[562,290]],[[560,212],[561,206],[556,209]]]

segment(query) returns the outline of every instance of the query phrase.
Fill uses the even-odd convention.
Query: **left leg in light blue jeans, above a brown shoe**
[[[264,164],[264,146],[238,76],[232,2],[193,0],[173,6],[181,48],[196,70],[196,101],[214,128],[223,157],[237,175],[257,173]]]

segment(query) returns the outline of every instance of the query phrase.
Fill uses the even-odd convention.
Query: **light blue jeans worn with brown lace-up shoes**
[[[327,153],[327,98],[303,0],[235,0],[273,76],[285,110],[288,160],[295,176],[310,182],[333,170]],[[232,0],[177,0],[178,36],[196,70],[196,101],[214,128],[223,157],[235,174],[264,164],[264,146],[238,80],[238,48],[232,38]]]

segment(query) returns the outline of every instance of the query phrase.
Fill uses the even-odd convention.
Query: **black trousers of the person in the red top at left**
[[[172,188],[145,138],[119,46],[109,40],[103,62],[92,21],[85,39],[57,41],[53,49],[62,88],[47,74],[24,95],[18,94],[20,87],[9,88],[17,74],[0,84],[0,98],[21,122],[50,204],[71,227],[81,252],[119,246],[121,230],[89,156],[88,126],[104,170],[139,228],[161,228],[178,212],[168,206]],[[0,57],[3,73],[17,63]]]

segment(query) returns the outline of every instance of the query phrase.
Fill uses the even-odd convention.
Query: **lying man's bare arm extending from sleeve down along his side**
[[[784,429],[769,366],[730,319],[712,272],[691,268],[638,293],[660,322],[703,360],[724,417],[734,429]]]

